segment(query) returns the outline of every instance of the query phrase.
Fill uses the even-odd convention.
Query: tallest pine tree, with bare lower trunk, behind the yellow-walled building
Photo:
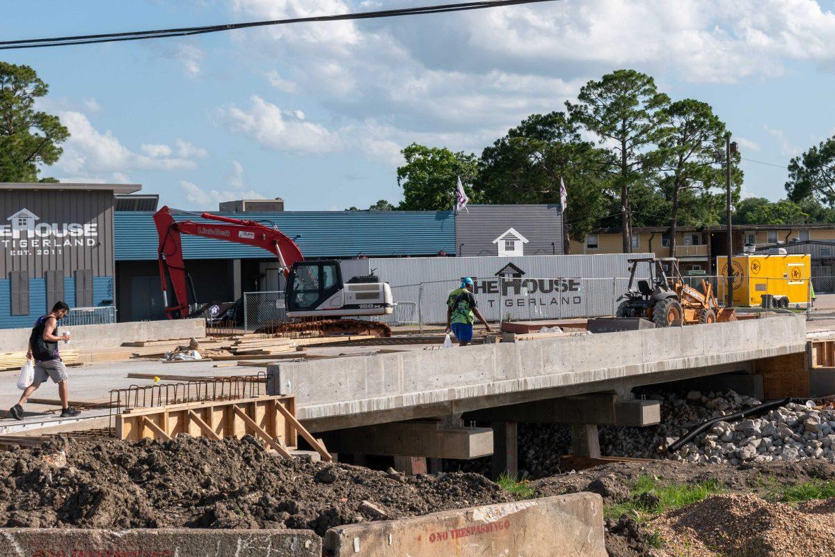
[[[664,109],[670,99],[658,92],[653,78],[631,69],[619,69],[600,81],[590,81],[580,89],[577,99],[578,104],[565,103],[569,114],[595,134],[600,144],[613,145],[612,182],[620,200],[623,249],[630,253],[630,188],[646,180],[657,164],[653,148],[660,139]]]

